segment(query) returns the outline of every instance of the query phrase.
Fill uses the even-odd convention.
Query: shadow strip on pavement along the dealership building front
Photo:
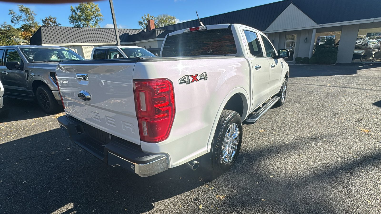
[[[381,64],[351,63],[336,65],[289,65],[290,77],[320,77],[333,75],[353,75],[357,70],[381,67]]]

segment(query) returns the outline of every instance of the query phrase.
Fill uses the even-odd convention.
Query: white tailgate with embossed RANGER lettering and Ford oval
[[[135,63],[88,63],[91,61],[86,64],[65,62],[56,70],[65,112],[140,145],[132,82]],[[82,90],[90,94],[89,101],[78,97]]]

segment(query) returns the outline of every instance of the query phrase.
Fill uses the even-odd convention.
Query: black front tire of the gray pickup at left
[[[61,106],[47,85],[40,85],[36,90],[36,99],[38,105],[48,114],[58,113]]]

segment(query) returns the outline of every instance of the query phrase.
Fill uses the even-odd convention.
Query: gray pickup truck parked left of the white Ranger
[[[59,62],[84,60],[57,46],[0,46],[0,80],[8,97],[37,99],[46,113],[62,109],[55,73]],[[61,83],[64,84],[64,83]]]

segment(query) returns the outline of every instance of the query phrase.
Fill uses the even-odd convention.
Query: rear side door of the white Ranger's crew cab
[[[270,77],[269,61],[264,57],[263,47],[259,42],[257,33],[243,30],[247,42],[248,58],[251,68],[251,109],[266,101]]]

